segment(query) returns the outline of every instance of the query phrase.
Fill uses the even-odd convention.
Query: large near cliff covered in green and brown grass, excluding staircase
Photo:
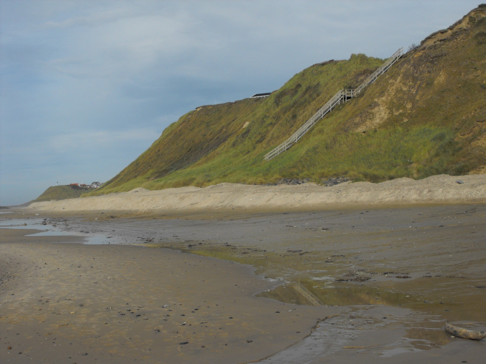
[[[379,182],[485,173],[485,6],[426,38],[291,149],[263,161],[337,91],[358,86],[381,64],[351,55],[305,69],[268,98],[197,108],[94,193],[282,177]]]

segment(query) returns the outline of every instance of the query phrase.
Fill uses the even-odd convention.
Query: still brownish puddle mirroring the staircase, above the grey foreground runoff
[[[185,253],[214,257],[251,265],[255,273],[281,281],[276,288],[258,296],[285,303],[311,306],[388,305],[440,314],[444,319],[484,321],[484,279],[468,279],[446,274],[419,275],[414,279],[404,272],[376,272],[356,269],[344,256],[326,252],[314,254],[235,249],[230,245],[215,247],[210,243],[160,243],[152,246],[174,248]],[[348,260],[349,259],[349,260]],[[337,281],[337,280],[349,281]],[[363,280],[363,281],[360,281]]]

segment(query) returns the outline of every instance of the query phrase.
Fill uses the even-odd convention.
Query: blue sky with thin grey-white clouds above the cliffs
[[[106,182],[198,106],[407,51],[480,3],[0,0],[0,205]]]

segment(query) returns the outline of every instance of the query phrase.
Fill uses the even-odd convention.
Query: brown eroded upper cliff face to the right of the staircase
[[[349,120],[353,130],[426,120],[453,125],[460,129],[459,137],[481,134],[477,143],[484,146],[486,7],[424,39],[377,85],[360,100],[360,112]]]

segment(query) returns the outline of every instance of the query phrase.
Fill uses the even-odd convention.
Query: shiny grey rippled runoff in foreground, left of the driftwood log
[[[323,354],[332,356],[343,349],[386,358],[437,348],[452,340],[442,329],[410,327],[420,326],[419,322],[424,320],[412,310],[394,308],[385,311],[387,317],[377,317],[380,312],[376,307],[352,307],[347,313],[320,322],[308,337],[259,363],[310,363]],[[355,360],[349,358],[350,362]]]

